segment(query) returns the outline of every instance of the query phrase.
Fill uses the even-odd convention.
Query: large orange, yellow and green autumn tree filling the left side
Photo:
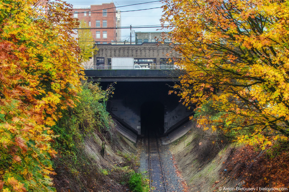
[[[0,3],[0,190],[54,191],[53,132],[81,90],[78,27],[63,1]]]

